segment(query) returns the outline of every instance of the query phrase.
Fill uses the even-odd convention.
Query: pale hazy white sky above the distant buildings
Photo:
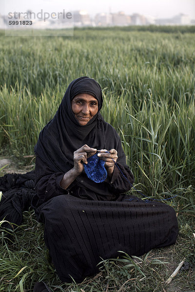
[[[0,14],[8,12],[60,12],[86,10],[91,16],[99,12],[124,11],[155,18],[169,18],[179,13],[195,19],[195,0],[0,0]]]

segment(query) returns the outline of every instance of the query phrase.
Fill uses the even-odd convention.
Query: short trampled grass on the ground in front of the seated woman
[[[13,243],[1,245],[0,291],[33,291],[43,280],[55,292],[193,292],[195,284],[194,217],[179,215],[180,233],[176,245],[152,250],[142,257],[121,253],[120,259],[99,264],[100,272],[82,283],[61,283],[48,256],[43,240],[43,226],[34,212],[24,212],[24,223],[13,234]],[[181,270],[170,284],[166,280],[179,262],[186,258],[190,266]]]

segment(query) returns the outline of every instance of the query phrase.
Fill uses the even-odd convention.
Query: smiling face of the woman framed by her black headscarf
[[[72,111],[81,126],[85,126],[98,112],[98,100],[88,93],[79,93],[71,101]]]

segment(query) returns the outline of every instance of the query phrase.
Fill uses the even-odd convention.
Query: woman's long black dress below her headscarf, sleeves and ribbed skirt
[[[119,164],[128,180],[132,173]],[[144,202],[124,194],[128,182],[115,167],[108,196],[79,187],[60,187],[63,173],[54,173],[36,161],[35,201],[44,239],[61,281],[80,282],[98,272],[101,258],[116,258],[118,251],[140,256],[153,248],[174,244],[178,233],[176,214],[169,205]]]

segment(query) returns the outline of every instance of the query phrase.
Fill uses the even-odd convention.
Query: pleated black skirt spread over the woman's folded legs
[[[176,242],[175,210],[150,201],[89,201],[70,195],[44,204],[39,219],[59,278],[81,282],[98,273],[101,259],[140,256]],[[72,277],[72,278],[71,278]]]

